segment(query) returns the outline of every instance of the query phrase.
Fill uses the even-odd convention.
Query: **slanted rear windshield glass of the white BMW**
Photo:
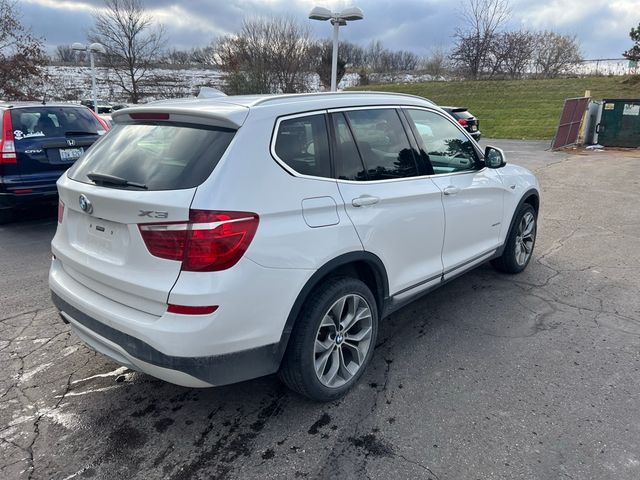
[[[69,178],[94,183],[87,176],[93,173],[148,190],[193,188],[211,175],[234,134],[235,130],[216,127],[116,125],[75,163]]]

